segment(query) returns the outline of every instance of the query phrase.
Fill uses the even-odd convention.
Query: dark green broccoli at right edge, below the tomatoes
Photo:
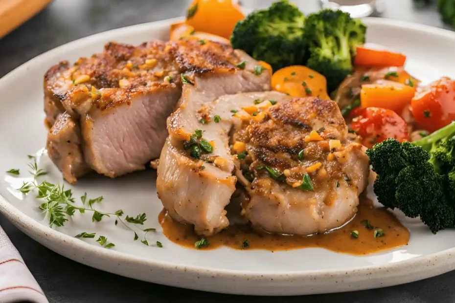
[[[433,233],[455,227],[455,122],[413,142],[389,138],[366,151],[384,206],[420,216]]]

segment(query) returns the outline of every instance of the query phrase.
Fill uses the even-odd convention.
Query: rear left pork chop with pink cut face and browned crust
[[[181,97],[181,73],[227,79],[223,75],[243,60],[250,57],[228,45],[188,39],[108,43],[103,53],[73,66],[51,67],[45,75],[50,158],[70,183],[91,169],[110,177],[143,169],[159,157],[168,135],[166,119]],[[235,83],[225,90],[215,81],[212,88],[222,88],[220,94],[248,90]]]

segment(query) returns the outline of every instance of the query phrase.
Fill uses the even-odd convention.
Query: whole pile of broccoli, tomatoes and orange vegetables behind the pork
[[[434,233],[455,227],[455,80],[422,85],[406,55],[365,43],[366,30],[345,12],[305,16],[287,0],[248,16],[234,0],[195,0],[170,36],[230,43],[273,72],[274,90],[335,101],[368,148],[378,200]]]

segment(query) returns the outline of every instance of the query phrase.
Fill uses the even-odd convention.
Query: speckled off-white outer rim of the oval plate
[[[179,20],[181,18],[123,27],[64,44],[14,69],[0,79],[0,86],[7,79],[18,76],[43,58],[65,53],[75,45],[80,47],[100,40],[115,40],[116,37],[127,33],[146,32],[152,28],[165,30],[169,24]],[[438,36],[440,39],[455,40],[455,33],[453,32],[411,22],[384,18],[365,18],[364,22],[367,25],[401,27],[416,32],[429,33]],[[430,278],[455,269],[455,248],[386,265],[364,266],[347,270],[257,274],[249,271],[181,266],[138,258],[80,241],[25,215],[2,196],[0,196],[0,212],[29,237],[71,260],[137,280],[197,290],[246,295],[329,293],[402,284]]]

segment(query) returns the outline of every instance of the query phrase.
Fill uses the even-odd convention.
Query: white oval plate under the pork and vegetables
[[[454,230],[437,235],[419,220],[398,214],[410,230],[410,241],[385,253],[357,257],[319,248],[270,252],[220,248],[198,251],[182,248],[161,233],[157,216],[162,209],[153,171],[118,179],[82,178],[73,186],[76,200],[104,196],[96,208],[105,212],[123,209],[125,214],[147,214],[142,228],[158,231],[147,235],[151,246],[133,241],[133,232],[114,218],[93,223],[91,214],[76,214],[64,227],[51,229],[38,209],[39,201],[14,190],[28,177],[27,154],[45,144],[43,125],[43,75],[61,60],[74,62],[99,52],[104,43],[138,44],[153,38],[166,40],[174,20],[111,30],[53,49],[18,67],[0,80],[0,211],[19,229],[53,251],[77,262],[118,275],[185,288],[250,295],[303,295],[394,285],[429,278],[455,268]],[[455,77],[455,34],[423,25],[367,18],[368,42],[393,47],[408,55],[407,69],[424,82],[440,76]],[[46,179],[62,182],[61,174],[44,155],[39,165]],[[21,177],[3,172],[21,169]],[[370,189],[371,190],[371,189]],[[114,242],[102,248],[95,239],[77,239],[81,232],[97,233]],[[140,234],[139,237],[142,237]],[[163,248],[155,246],[159,240]],[[347,242],[346,245],[349,245]]]

